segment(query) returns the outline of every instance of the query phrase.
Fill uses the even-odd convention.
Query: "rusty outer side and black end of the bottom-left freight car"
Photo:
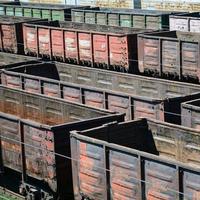
[[[72,195],[71,161],[57,157],[52,152],[70,156],[70,130],[92,128],[109,121],[124,121],[121,114],[106,116],[105,113],[94,117],[91,115],[88,120],[49,126],[1,112],[0,142],[3,166],[21,172],[24,183],[33,184],[35,187],[43,187],[41,183],[45,183],[58,196],[66,193]],[[24,142],[25,145],[21,146],[20,142]],[[28,177],[41,180],[40,185],[29,182]],[[63,196],[62,198],[65,199]]]

